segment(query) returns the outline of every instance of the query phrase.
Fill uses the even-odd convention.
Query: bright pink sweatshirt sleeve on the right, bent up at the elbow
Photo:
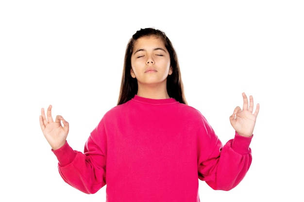
[[[234,139],[222,145],[211,126],[205,121],[199,137],[199,179],[215,190],[231,190],[237,186],[252,162],[249,147],[251,137],[235,134]]]

